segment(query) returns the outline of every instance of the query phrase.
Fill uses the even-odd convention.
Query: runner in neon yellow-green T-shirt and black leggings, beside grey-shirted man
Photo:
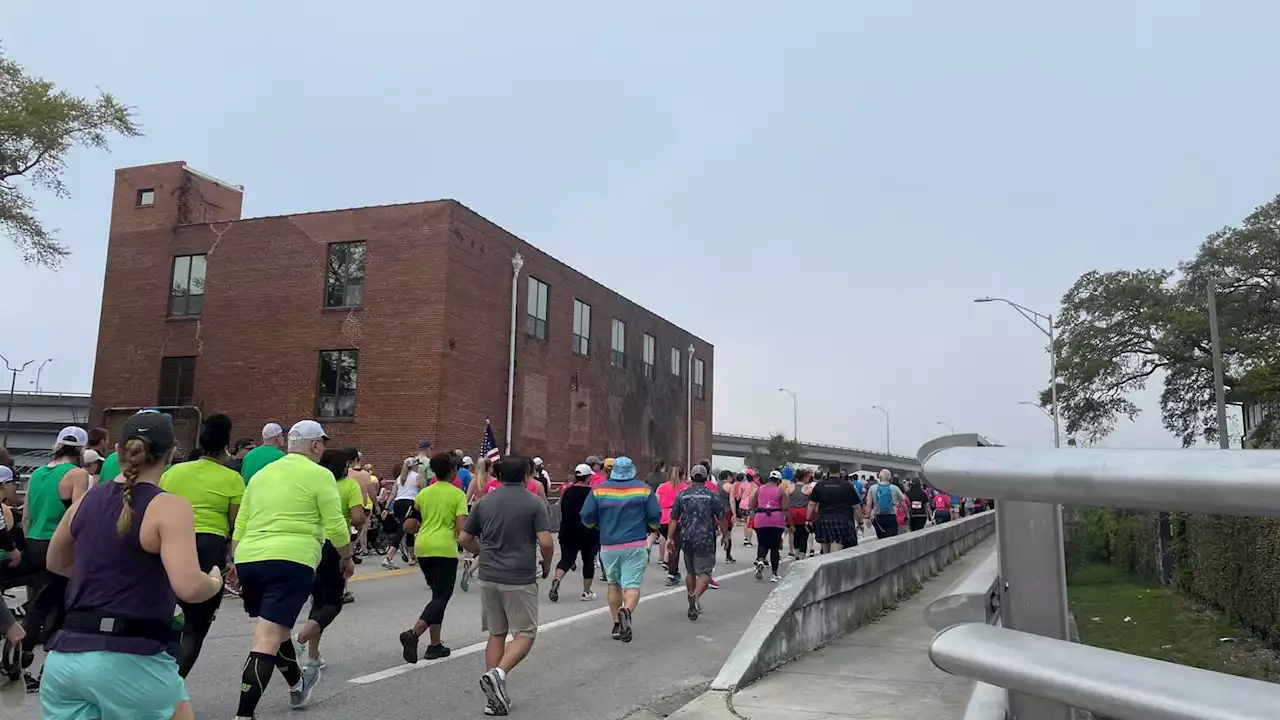
[[[401,633],[404,662],[417,662],[417,639],[422,633],[429,633],[430,641],[424,660],[439,660],[452,652],[440,641],[440,625],[458,579],[458,536],[467,519],[467,496],[453,484],[457,459],[442,452],[431,457],[430,466],[435,478],[413,498],[413,510],[406,523],[417,538],[413,551],[422,578],[431,588],[431,601],[413,626]]]

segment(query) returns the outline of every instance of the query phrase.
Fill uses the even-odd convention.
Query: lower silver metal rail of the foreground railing
[[[1070,452],[1070,451],[1064,451]],[[942,670],[1115,720],[1275,720],[1280,685],[978,623],[938,633]]]

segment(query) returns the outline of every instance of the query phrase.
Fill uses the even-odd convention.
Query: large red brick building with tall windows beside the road
[[[453,200],[241,219],[243,188],[163,163],[115,173],[91,419],[227,413],[234,437],[317,418],[380,474],[421,438],[504,445],[556,480],[590,454],[710,454],[713,348]],[[692,370],[687,348],[695,348]]]

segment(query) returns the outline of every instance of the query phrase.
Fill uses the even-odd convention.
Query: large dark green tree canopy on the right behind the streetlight
[[[1134,392],[1156,378],[1161,419],[1183,446],[1217,441],[1210,342],[1216,283],[1224,384],[1280,398],[1280,197],[1225,227],[1176,270],[1091,270],[1062,296],[1059,404],[1069,436],[1096,442],[1140,411]],[[1050,392],[1041,395],[1048,406]],[[1265,423],[1267,424],[1267,423]],[[1265,433],[1260,428],[1258,433]]]

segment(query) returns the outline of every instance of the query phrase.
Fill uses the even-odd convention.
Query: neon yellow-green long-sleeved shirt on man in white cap
[[[333,473],[289,454],[256,477],[261,482],[246,486],[236,515],[236,562],[288,560],[314,569],[325,539],[351,543]]]

